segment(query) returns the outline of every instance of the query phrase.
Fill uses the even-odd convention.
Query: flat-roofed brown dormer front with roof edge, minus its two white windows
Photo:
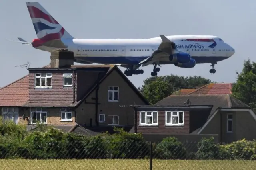
[[[206,111],[212,108],[212,105],[184,105],[184,106],[133,106],[134,107],[134,132],[150,134],[189,134],[190,133],[190,112]],[[157,111],[157,125],[140,125],[141,111]],[[166,126],[166,111],[184,111],[184,125]]]

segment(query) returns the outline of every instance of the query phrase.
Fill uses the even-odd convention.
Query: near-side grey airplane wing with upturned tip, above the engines
[[[159,61],[163,55],[171,55],[176,53],[174,42],[170,41],[164,35],[160,35],[162,43],[159,45],[158,49],[153,52],[152,56],[144,59],[138,65],[148,66],[156,61]]]

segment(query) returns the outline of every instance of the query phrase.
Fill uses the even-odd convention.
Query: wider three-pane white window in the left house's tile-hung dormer
[[[52,73],[36,73],[36,87],[51,88]]]

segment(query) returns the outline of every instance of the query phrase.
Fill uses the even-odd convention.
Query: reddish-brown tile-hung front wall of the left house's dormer
[[[29,102],[73,102],[73,86],[63,86],[63,73],[72,72],[70,70],[62,71],[30,71],[29,73]],[[36,73],[52,73],[52,88],[35,88]],[[73,76],[74,77],[74,76]],[[74,78],[73,78],[74,79]]]

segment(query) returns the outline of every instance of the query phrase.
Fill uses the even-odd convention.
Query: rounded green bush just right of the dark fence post
[[[155,154],[159,159],[184,159],[186,149],[176,137],[167,137],[156,145]]]

